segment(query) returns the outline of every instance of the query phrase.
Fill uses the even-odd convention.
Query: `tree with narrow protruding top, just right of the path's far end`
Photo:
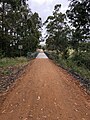
[[[45,21],[48,38],[47,46],[60,52],[66,57],[68,49],[69,26],[66,23],[65,14],[60,12],[61,5],[55,5],[53,15]]]

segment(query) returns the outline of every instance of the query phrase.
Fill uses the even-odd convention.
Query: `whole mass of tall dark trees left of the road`
[[[26,0],[0,1],[0,50],[7,57],[19,56],[18,45],[23,45],[22,55],[35,51],[41,36],[41,18],[32,13]],[[28,47],[27,47],[28,46]]]

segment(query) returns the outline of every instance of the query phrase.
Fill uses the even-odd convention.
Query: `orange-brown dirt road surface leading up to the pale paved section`
[[[37,58],[7,95],[0,120],[90,120],[90,97],[65,70]]]

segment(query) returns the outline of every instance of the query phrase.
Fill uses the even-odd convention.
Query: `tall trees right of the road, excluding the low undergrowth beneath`
[[[61,5],[57,4],[53,15],[44,23],[47,29],[47,48],[58,51],[64,57],[69,49],[78,53],[84,50],[83,46],[87,48],[90,42],[90,0],[69,1],[65,14],[60,11]]]

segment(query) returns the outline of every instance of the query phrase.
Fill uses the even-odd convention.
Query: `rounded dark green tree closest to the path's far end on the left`
[[[28,50],[35,51],[39,44],[42,28],[42,21],[38,13],[31,13],[31,15],[28,16],[27,26]]]

